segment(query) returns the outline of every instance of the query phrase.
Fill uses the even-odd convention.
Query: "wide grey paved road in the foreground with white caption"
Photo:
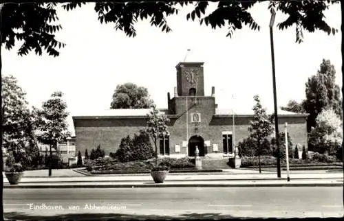
[[[4,189],[3,205],[17,220],[342,217],[343,187]]]

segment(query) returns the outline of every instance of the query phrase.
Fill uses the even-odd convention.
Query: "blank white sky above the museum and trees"
[[[216,5],[211,4],[207,12]],[[325,12],[327,23],[338,33],[304,31],[304,42],[295,43],[295,27],[274,29],[277,104],[305,98],[305,82],[319,69],[323,58],[336,69],[336,83],[342,86],[341,5]],[[69,110],[69,130],[74,132],[73,115],[108,109],[118,84],[133,82],[147,87],[158,108],[167,107],[167,92],[173,97],[176,86],[175,65],[182,62],[187,49],[189,59],[204,62],[204,90],[211,95],[215,86],[218,108],[252,109],[254,95],[268,110],[273,110],[270,51],[270,12],[267,3],[257,3],[250,12],[261,30],[248,27],[226,37],[226,27],[212,30],[198,21],[186,21],[192,8],[180,10],[167,22],[170,33],[151,27],[149,21],[136,23],[137,36],[130,38],[114,30],[114,24],[100,24],[94,3],[72,12],[58,10],[63,30],[56,38],[66,43],[57,58],[17,56],[19,43],[11,51],[3,49],[3,75],[14,75],[27,93],[30,106],[40,107],[54,91],[65,94]],[[286,19],[277,12],[275,25]],[[232,98],[234,96],[234,99]]]

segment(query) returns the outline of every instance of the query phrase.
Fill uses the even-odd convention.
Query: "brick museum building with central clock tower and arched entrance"
[[[180,62],[176,66],[177,86],[174,96],[167,93],[167,109],[159,109],[169,117],[169,137],[158,142],[160,156],[200,156],[222,159],[233,156],[233,147],[248,137],[250,113],[233,113],[217,108],[215,87],[211,95],[204,93],[204,62]],[[210,90],[209,90],[210,91]],[[76,154],[100,145],[105,155],[116,152],[123,137],[138,134],[147,128],[149,109],[109,109],[93,115],[73,116],[76,135]],[[279,131],[288,132],[294,144],[307,148],[308,115],[279,110]],[[269,113],[271,114],[271,113]]]

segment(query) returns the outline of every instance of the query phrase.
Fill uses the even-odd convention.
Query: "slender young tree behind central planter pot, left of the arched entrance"
[[[147,114],[147,132],[155,146],[155,166],[158,165],[158,146],[156,141],[158,141],[160,137],[166,137],[169,135],[169,131],[167,130],[167,124],[169,121],[169,118],[160,113],[155,105],[153,105]]]

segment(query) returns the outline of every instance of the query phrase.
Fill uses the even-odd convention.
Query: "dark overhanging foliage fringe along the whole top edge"
[[[149,20],[151,26],[162,32],[171,32],[166,18],[178,14],[185,5],[193,5],[193,10],[186,15],[186,20],[198,20],[213,29],[228,28],[227,36],[233,36],[235,30],[244,26],[251,30],[260,30],[259,24],[250,14],[250,8],[261,1],[219,1],[213,12],[208,12],[207,1],[118,1],[96,2],[94,10],[100,23],[112,23],[115,30],[124,32],[129,37],[136,36],[134,25],[139,20]],[[268,10],[287,15],[285,21],[277,24],[279,30],[295,27],[296,41],[303,41],[303,31],[319,30],[335,34],[337,30],[330,27],[323,12],[330,5],[339,1],[269,1]],[[63,3],[62,8],[69,11],[85,3]],[[58,49],[65,44],[56,40],[56,32],[62,29],[57,24],[56,3],[3,3],[1,4],[2,43],[6,49],[12,49],[16,41],[22,43],[19,55],[34,51],[41,55],[46,51],[50,56],[58,56]]]

